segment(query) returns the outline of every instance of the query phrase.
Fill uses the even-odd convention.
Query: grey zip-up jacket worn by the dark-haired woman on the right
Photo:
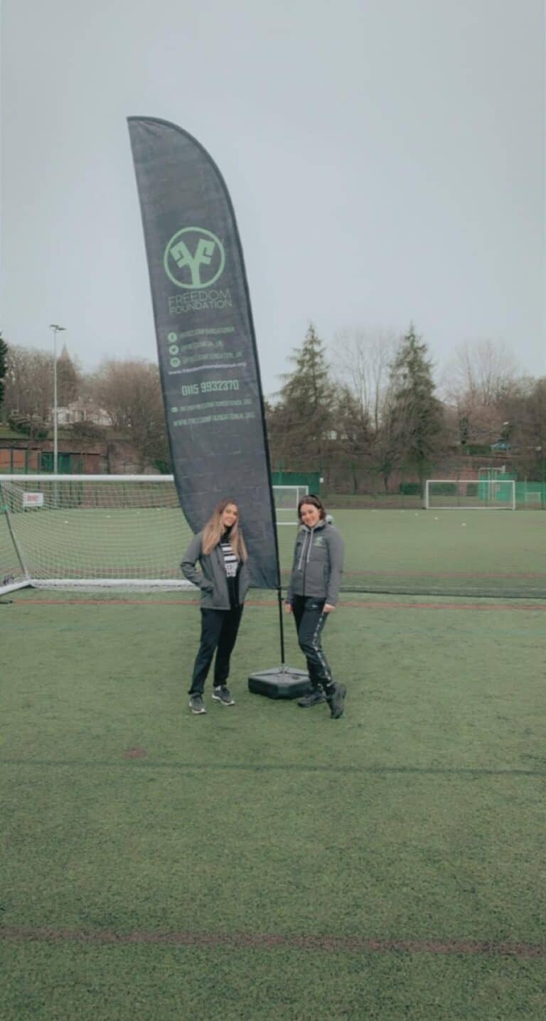
[[[314,528],[301,525],[286,601],[291,603],[294,595],[311,595],[335,606],[344,551],[345,543],[334,525],[326,521],[319,521]]]

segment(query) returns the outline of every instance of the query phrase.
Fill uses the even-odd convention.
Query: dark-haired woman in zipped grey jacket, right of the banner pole
[[[298,503],[301,527],[296,538],[294,564],[286,597],[286,611],[294,614],[298,641],[307,661],[312,690],[298,706],[308,709],[328,702],[334,720],[343,716],[346,688],[334,681],[320,644],[329,614],[336,609],[343,573],[344,542],[327,521],[318,496],[303,496]]]

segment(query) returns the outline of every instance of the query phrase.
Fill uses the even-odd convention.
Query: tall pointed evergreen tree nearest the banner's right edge
[[[293,471],[328,471],[335,388],[312,324],[291,360],[295,370],[285,376],[281,400],[269,410],[272,465],[283,460]]]

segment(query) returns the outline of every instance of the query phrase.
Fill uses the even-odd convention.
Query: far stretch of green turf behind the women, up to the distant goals
[[[346,591],[546,597],[540,512],[338,510],[335,523],[347,544]],[[172,508],[31,510],[12,525],[38,578],[111,578],[121,567],[134,578],[179,579],[191,535]],[[294,536],[294,526],[279,528],[285,583]],[[0,583],[14,560],[0,515]]]

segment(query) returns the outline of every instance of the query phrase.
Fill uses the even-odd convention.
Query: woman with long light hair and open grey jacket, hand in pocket
[[[201,571],[196,569],[197,561]],[[203,690],[214,652],[212,698],[220,706],[235,704],[226,682],[249,585],[247,561],[239,507],[234,500],[221,500],[203,531],[190,542],[181,564],[188,581],[201,589],[201,641],[189,691],[192,713],[206,713]]]

